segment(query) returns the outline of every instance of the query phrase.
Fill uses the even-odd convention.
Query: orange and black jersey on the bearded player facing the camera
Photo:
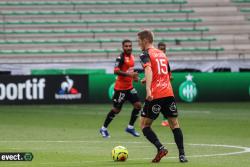
[[[122,53],[116,58],[114,72],[134,72],[134,55],[126,55]],[[129,76],[118,75],[115,82],[115,90],[129,90],[133,88],[133,78]]]

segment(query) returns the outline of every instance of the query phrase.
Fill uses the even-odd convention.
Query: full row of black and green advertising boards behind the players
[[[115,77],[113,74],[0,76],[0,104],[111,103]],[[143,77],[141,74],[140,78]],[[250,101],[247,72],[173,73],[173,77],[177,101]],[[145,86],[140,83],[134,86],[143,101]]]

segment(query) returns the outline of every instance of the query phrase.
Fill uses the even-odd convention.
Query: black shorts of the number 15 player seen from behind
[[[155,99],[152,101],[146,100],[141,112],[141,116],[155,120],[159,116],[160,112],[165,118],[177,117],[178,111],[175,98],[171,96]]]

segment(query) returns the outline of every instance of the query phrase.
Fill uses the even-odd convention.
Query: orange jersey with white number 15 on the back
[[[159,49],[149,48],[140,56],[142,66],[150,66],[152,69],[151,92],[153,99],[174,96],[170,83],[170,68],[168,58]]]

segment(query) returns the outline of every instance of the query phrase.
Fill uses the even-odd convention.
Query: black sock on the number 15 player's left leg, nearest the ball
[[[143,135],[148,139],[148,141],[150,141],[153,145],[155,145],[158,151],[164,147],[159,141],[159,139],[157,138],[154,131],[151,129],[151,127],[143,128],[142,132],[143,132]]]

